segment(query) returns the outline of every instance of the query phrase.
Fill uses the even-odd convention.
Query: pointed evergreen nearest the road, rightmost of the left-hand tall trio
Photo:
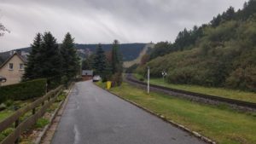
[[[79,70],[79,60],[77,51],[74,47],[74,39],[67,32],[63,42],[61,43],[61,75],[69,78],[76,76]]]

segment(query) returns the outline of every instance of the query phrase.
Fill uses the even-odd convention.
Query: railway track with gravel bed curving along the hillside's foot
[[[142,81],[138,81],[131,74],[126,74],[125,81],[130,84],[137,85],[144,89],[146,89],[147,87],[146,83]],[[154,91],[164,92],[168,95],[175,95],[175,96],[180,96],[184,98],[189,98],[190,100],[193,100],[193,101],[200,101],[200,102],[209,103],[212,105],[227,104],[227,105],[230,105],[231,107],[235,107],[241,110],[256,111],[256,103],[253,103],[253,102],[228,99],[228,98],[224,98],[216,95],[205,95],[205,94],[185,91],[181,89],[166,88],[166,87],[163,87],[160,85],[154,85],[154,84],[150,84],[150,89]]]

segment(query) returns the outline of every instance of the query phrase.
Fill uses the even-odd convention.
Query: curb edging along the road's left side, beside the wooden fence
[[[73,84],[74,85],[74,84]],[[49,124],[47,124],[45,127],[44,127],[44,130],[38,135],[38,138],[37,140],[34,142],[35,144],[39,144],[42,140],[43,140],[43,137],[44,135],[47,133],[47,131],[49,130],[50,126],[53,124],[54,120],[55,120],[55,117],[57,116],[58,112],[60,112],[61,108],[65,108],[66,105],[67,105],[67,101],[68,101],[68,98],[69,98],[69,95],[70,95],[70,92],[71,92],[71,89],[73,89],[73,85],[70,86],[69,90],[68,90],[68,93],[67,93],[67,97],[64,101],[61,101],[59,106],[55,109],[55,112],[54,114],[51,116],[51,118],[49,119]],[[61,112],[62,113],[62,112]]]

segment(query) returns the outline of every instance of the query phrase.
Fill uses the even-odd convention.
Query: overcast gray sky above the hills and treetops
[[[37,32],[50,31],[61,43],[174,41],[184,27],[200,26],[244,0],[0,0],[0,20],[11,33],[0,52],[27,47]]]

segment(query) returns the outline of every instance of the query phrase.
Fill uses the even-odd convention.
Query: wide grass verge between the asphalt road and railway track
[[[103,86],[102,83],[98,83]],[[130,84],[111,91],[222,144],[256,143],[256,113],[242,113],[152,92]]]

